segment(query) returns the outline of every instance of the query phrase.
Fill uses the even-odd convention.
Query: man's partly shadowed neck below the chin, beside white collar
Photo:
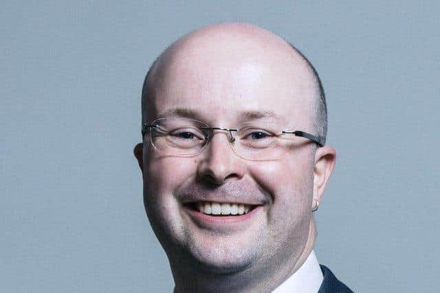
[[[180,259],[178,263],[171,263],[175,281],[174,293],[271,292],[303,265],[314,248],[315,231],[312,219],[307,242],[300,255],[281,257],[278,261],[270,264],[267,262],[263,266],[250,266],[241,272],[219,274]]]

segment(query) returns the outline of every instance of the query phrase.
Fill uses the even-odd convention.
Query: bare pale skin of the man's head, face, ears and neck
[[[197,111],[210,126],[234,128],[243,111],[271,111],[281,129],[316,133],[316,81],[283,39],[245,23],[191,32],[162,53],[147,81],[143,122],[172,109]],[[227,135],[181,158],[135,147],[144,180],[146,214],[164,247],[175,292],[270,292],[314,248],[312,209],[336,162],[331,146],[292,136],[281,160],[250,161]],[[246,225],[201,226],[184,208],[185,195],[234,199],[262,208]]]

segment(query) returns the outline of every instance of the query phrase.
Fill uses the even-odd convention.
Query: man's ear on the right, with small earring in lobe
[[[322,146],[316,150],[315,153],[315,168],[314,168],[314,200],[312,208],[321,201],[324,194],[325,186],[329,182],[329,178],[336,163],[336,151],[331,146]]]

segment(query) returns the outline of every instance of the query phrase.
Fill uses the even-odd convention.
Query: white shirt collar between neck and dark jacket
[[[316,259],[314,250],[311,250],[303,265],[292,276],[289,276],[289,279],[276,287],[272,293],[316,293],[321,286],[322,279],[324,277],[318,259]]]

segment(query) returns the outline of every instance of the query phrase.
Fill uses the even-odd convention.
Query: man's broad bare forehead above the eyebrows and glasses
[[[172,47],[148,78],[146,120],[187,109],[214,124],[264,114],[309,128],[314,76],[287,43],[276,41],[197,39]]]

